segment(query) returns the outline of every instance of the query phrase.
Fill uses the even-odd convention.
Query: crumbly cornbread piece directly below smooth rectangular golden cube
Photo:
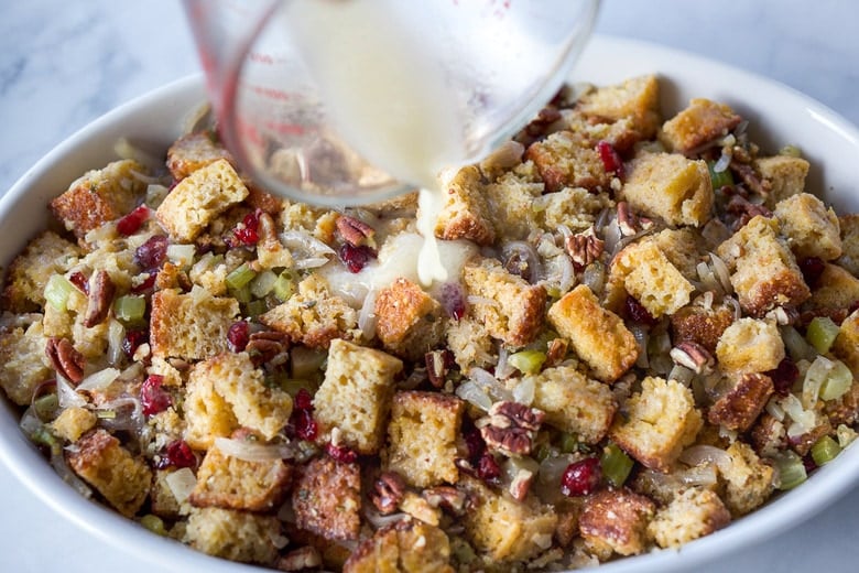
[[[596,444],[606,436],[618,409],[608,386],[572,366],[546,368],[533,378],[532,406],[546,413],[546,423],[576,434],[586,444]]]

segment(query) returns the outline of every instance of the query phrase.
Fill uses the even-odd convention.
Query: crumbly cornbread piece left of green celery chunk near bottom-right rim
[[[746,443],[736,441],[727,450],[728,469],[719,467],[725,480],[722,500],[735,518],[744,516],[766,501],[773,491],[774,471]]]

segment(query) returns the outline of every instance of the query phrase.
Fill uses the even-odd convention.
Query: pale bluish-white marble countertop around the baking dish
[[[4,1],[0,193],[78,128],[199,69],[178,0]],[[604,0],[598,33],[695,52],[780,80],[859,125],[859,2]],[[856,571],[859,488],[765,543],[700,573]],[[146,572],[72,528],[0,468],[0,571]]]

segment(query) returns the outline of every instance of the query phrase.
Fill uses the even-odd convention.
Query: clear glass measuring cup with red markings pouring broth
[[[554,95],[597,0],[184,0],[219,131],[268,191],[348,206],[478,161]]]

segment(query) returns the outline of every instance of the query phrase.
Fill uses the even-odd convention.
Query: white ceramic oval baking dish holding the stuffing
[[[610,84],[640,74],[661,79],[663,115],[671,117],[693,97],[707,97],[733,107],[750,121],[754,141],[776,151],[792,143],[812,163],[806,191],[839,212],[859,212],[852,190],[859,159],[859,131],[825,106],[783,85],[702,57],[651,44],[595,37],[574,72],[576,82]],[[46,205],[84,171],[116,159],[120,137],[163,151],[180,134],[186,113],[204,99],[202,77],[189,77],[143,96],[104,116],[63,142],[0,199],[0,262],[12,260],[47,217]],[[95,538],[108,541],[156,571],[213,573],[259,571],[215,560],[162,539],[97,502],[89,501],[54,474],[45,460],[18,430],[18,417],[7,401],[0,404],[0,460],[45,504]],[[600,567],[605,573],[689,570],[705,561],[735,553],[741,547],[771,538],[801,523],[835,501],[856,484],[859,447],[815,472],[800,487],[728,528],[684,545],[629,558]],[[857,519],[859,526],[859,518]],[[93,542],[96,542],[95,539]]]

